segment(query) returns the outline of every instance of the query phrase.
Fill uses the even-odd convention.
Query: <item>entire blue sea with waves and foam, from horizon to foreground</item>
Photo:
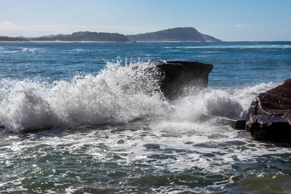
[[[172,59],[209,87],[165,99],[144,72]],[[200,119],[289,78],[291,42],[0,42],[0,193],[291,194],[291,145]]]

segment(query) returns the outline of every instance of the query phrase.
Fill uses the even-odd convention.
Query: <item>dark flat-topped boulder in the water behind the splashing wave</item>
[[[194,61],[151,61],[162,74],[161,91],[169,99],[187,92],[187,88],[205,88],[213,65]]]

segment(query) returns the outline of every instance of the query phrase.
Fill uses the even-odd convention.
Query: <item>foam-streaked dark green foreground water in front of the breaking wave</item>
[[[107,192],[129,192],[132,188],[165,193],[215,193],[226,189],[231,193],[237,188],[248,190],[248,179],[251,182],[270,175],[274,180],[276,176],[285,181],[291,179],[288,171],[276,172],[280,163],[268,160],[273,156],[287,162],[291,154],[288,147],[253,141],[245,131],[227,127],[213,130],[216,129],[192,135],[173,134],[137,122],[40,131],[24,137],[6,134],[0,143],[0,162],[7,168],[17,165],[15,173],[21,172],[20,177],[12,178],[14,189],[30,187],[48,192],[50,187],[52,193],[64,191],[66,184],[72,185],[71,193],[85,191],[84,186]],[[265,162],[273,167],[263,167]],[[4,178],[9,176],[7,172],[2,171]],[[40,179],[35,180],[34,176]],[[43,179],[48,176],[54,180]],[[231,186],[240,180],[244,181]],[[9,189],[7,181],[0,188]]]

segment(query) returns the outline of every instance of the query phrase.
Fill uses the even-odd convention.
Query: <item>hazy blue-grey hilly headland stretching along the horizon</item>
[[[198,32],[195,28],[172,28],[158,32],[123,35],[107,32],[73,32],[40,37],[0,36],[2,42],[220,42],[213,36]]]

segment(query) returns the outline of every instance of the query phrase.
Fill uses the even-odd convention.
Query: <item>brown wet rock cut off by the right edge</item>
[[[248,116],[246,130],[253,138],[291,142],[291,79],[259,94]]]

